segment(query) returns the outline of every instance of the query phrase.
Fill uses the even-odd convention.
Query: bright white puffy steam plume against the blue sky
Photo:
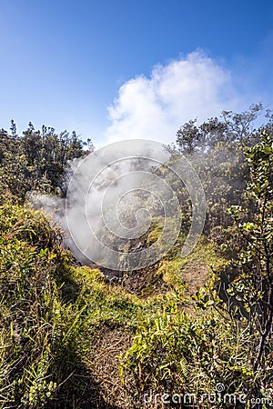
[[[227,69],[201,52],[154,67],[127,81],[109,109],[106,141],[145,138],[174,142],[177,128],[198,122],[223,109],[238,108],[238,93]]]

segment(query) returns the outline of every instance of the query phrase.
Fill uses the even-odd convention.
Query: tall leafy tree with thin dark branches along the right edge
[[[264,132],[258,144],[246,148],[246,155],[249,208],[231,209],[245,244],[235,262],[238,274],[229,293],[248,312],[249,333],[259,334],[253,359],[257,394],[261,382],[272,381],[273,365],[273,136]]]

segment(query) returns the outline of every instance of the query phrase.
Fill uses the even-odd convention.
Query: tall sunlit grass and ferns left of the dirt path
[[[0,224],[1,407],[41,408],[73,391],[86,305],[62,299],[67,254],[45,215],[4,205]]]

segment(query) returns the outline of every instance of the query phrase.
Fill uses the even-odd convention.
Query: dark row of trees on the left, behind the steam
[[[85,154],[83,142],[75,132],[57,135],[54,128],[43,125],[35,130],[30,123],[22,136],[0,130],[0,195],[9,192],[24,199],[25,193],[37,190],[56,192],[68,161]]]

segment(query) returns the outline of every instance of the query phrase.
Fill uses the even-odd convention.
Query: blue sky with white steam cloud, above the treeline
[[[170,142],[190,117],[273,109],[271,0],[0,0],[0,16],[5,129]]]

